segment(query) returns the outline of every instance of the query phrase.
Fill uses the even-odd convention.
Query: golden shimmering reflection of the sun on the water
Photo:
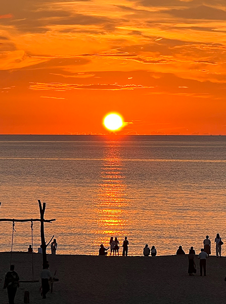
[[[96,248],[102,243],[109,247],[110,237],[118,237],[122,241],[129,234],[131,201],[126,193],[124,170],[120,147],[109,142],[105,147],[100,183],[93,200],[96,225],[92,231],[96,236],[91,241],[91,246],[95,248],[93,254],[97,254]]]

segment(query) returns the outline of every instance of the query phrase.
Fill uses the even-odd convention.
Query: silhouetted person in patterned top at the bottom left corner
[[[19,287],[19,276],[14,271],[14,265],[10,266],[10,271],[6,273],[4,287],[7,288],[9,304],[14,304],[14,298]]]

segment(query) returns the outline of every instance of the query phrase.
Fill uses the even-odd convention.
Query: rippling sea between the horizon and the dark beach
[[[0,135],[0,218],[40,218],[46,203],[47,243],[57,254],[98,254],[110,237],[122,253],[157,255],[178,246],[198,253],[219,233],[226,255],[226,136]],[[13,226],[0,221],[0,251]],[[15,222],[13,251],[27,251],[31,222]],[[40,222],[33,222],[33,249]],[[225,246],[225,249],[224,249]],[[50,245],[47,252],[50,253]]]

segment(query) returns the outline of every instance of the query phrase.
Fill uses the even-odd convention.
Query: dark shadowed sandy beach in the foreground
[[[4,276],[10,266],[10,252],[0,252],[1,304],[8,303],[3,289]],[[188,275],[188,256],[92,256],[48,255],[50,271],[57,271],[59,282],[47,299],[40,296],[41,254],[34,253],[34,280],[21,283],[15,304],[23,303],[24,291],[30,303],[104,304],[104,303],[225,303],[224,277],[226,257],[207,259],[207,276],[199,276],[199,260],[195,257],[197,274]],[[12,263],[20,280],[32,280],[32,257],[27,252],[14,252]]]

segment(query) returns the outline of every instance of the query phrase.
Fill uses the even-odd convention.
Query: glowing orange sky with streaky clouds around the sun
[[[0,133],[226,135],[225,0],[8,0]]]

